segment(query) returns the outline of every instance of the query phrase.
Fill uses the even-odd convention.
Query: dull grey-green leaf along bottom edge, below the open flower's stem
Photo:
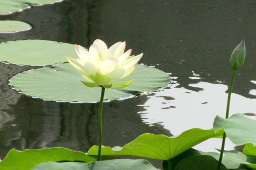
[[[32,170],[159,170],[145,160],[110,160],[91,163],[42,163]]]

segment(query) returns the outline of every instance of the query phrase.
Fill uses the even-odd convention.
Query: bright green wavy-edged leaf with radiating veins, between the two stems
[[[214,132],[213,129],[189,129],[177,137],[165,135],[143,134],[134,141],[121,147],[102,147],[101,155],[131,155],[158,160],[169,160],[185,152],[191,147],[210,138],[218,138],[223,131]],[[88,155],[97,155],[98,147],[92,146]]]

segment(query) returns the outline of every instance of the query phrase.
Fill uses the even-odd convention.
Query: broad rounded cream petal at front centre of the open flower
[[[101,74],[106,75],[116,68],[117,63],[118,61],[116,59],[109,58],[107,60],[100,61],[98,69],[101,72]]]

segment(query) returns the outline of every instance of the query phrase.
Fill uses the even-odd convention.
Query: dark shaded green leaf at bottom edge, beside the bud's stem
[[[208,155],[193,156],[181,160],[175,170],[217,170],[218,161]],[[220,170],[227,170],[221,165]]]

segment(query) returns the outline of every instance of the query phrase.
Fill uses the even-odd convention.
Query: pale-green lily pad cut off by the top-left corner
[[[47,4],[52,2],[59,2],[62,0],[1,0],[0,1],[0,14],[5,14],[9,12],[16,12],[18,10],[23,10],[29,6],[35,4]]]

